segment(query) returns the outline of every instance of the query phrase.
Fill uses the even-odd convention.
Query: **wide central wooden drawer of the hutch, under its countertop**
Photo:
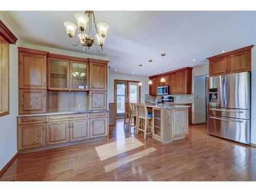
[[[76,120],[76,119],[89,119],[90,114],[71,114],[71,115],[49,115],[46,117],[47,122],[63,121],[63,120]]]

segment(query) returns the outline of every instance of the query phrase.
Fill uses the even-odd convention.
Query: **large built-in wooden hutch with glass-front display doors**
[[[19,52],[18,150],[108,136],[108,62],[28,48]]]

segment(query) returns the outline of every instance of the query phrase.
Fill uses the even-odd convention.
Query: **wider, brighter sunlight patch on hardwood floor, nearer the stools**
[[[101,161],[122,154],[124,152],[133,150],[134,148],[143,146],[144,143],[139,140],[129,137],[126,139],[120,139],[118,141],[104,144],[95,147],[95,150]]]

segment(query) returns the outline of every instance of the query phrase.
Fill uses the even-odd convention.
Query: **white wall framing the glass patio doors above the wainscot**
[[[109,96],[109,102],[114,102],[114,79],[120,79],[120,80],[134,80],[139,81],[140,76],[138,75],[124,75],[124,74],[117,74],[117,73],[109,73],[109,87],[108,87],[108,96]],[[148,77],[147,76],[141,76],[141,102],[145,102],[145,94],[148,94],[149,86],[148,86]]]

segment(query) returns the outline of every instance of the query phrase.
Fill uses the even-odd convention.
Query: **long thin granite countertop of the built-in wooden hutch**
[[[42,115],[68,115],[76,113],[97,113],[97,112],[108,112],[109,110],[98,110],[98,111],[89,111],[89,110],[74,110],[74,111],[58,111],[58,112],[48,112],[48,113],[39,113],[39,114],[26,114],[26,115],[17,115],[17,117],[31,117],[31,116],[42,116]]]

